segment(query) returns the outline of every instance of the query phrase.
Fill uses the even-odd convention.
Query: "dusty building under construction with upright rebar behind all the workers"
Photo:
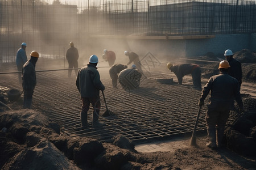
[[[160,57],[254,50],[255,1],[0,1],[0,59],[12,62],[22,42],[43,57],[63,57],[69,42],[83,56],[111,48]],[[118,44],[118,46],[117,46]],[[158,48],[156,48],[158,47]]]

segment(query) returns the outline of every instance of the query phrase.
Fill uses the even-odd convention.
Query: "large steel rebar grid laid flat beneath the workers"
[[[104,92],[108,108],[115,113],[114,116],[100,117],[100,121],[105,124],[103,128],[92,128],[92,108],[88,112],[90,127],[81,127],[80,94],[75,85],[75,75],[68,78],[67,71],[36,73],[37,85],[32,108],[58,122],[61,129],[71,137],[92,137],[101,142],[110,142],[117,134],[125,135],[134,142],[143,142],[192,132],[201,91],[189,85],[158,83],[155,78],[159,78],[159,73],[151,73],[137,90],[129,93],[122,90],[121,86],[118,90],[112,88],[108,68],[98,70],[106,87]],[[2,86],[21,88],[16,74],[0,76]],[[103,112],[105,105],[101,96],[101,114]],[[198,131],[206,129],[205,112],[206,107],[202,109]]]

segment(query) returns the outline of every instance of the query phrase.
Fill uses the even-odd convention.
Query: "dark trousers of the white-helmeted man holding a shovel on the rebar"
[[[98,117],[100,116],[100,108],[101,108],[101,101],[100,96],[94,98],[88,97],[81,97],[82,100],[82,111],[80,114],[81,124],[82,126],[86,126],[87,124],[87,113],[89,111],[90,104],[93,107],[93,122],[98,121]]]

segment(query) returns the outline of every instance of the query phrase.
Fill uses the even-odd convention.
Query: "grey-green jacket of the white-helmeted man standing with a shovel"
[[[88,64],[82,67],[76,77],[76,87],[80,92],[81,97],[93,98],[100,95],[100,90],[105,90],[101,83],[100,74],[97,67]]]

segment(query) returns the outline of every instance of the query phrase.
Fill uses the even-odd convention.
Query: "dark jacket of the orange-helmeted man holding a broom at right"
[[[221,105],[229,107],[235,97],[238,105],[243,106],[238,80],[226,72],[210,77],[202,91],[200,100],[204,101],[209,91],[209,104],[216,103],[216,107],[221,107]]]

